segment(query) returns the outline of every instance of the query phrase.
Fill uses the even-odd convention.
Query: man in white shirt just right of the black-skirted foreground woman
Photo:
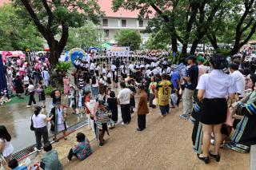
[[[242,99],[242,97],[245,96],[246,79],[242,73],[238,71],[238,64],[230,64],[230,76],[234,77],[238,97],[239,99]]]

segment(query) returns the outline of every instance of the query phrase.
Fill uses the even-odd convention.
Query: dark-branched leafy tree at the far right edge
[[[254,38],[256,30],[256,1],[233,0],[226,3],[218,18],[210,25],[207,38],[214,49],[220,43],[231,44],[230,54],[238,53],[242,45]]]

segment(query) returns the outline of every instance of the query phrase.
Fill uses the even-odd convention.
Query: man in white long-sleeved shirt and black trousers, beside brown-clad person
[[[130,124],[130,96],[132,92],[126,88],[124,81],[120,82],[121,90],[118,93],[118,105],[121,107],[122,125]]]

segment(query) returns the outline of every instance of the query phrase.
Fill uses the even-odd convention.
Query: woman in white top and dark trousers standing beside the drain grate
[[[43,144],[49,142],[48,130],[46,126],[46,122],[50,121],[54,116],[46,117],[46,115],[42,114],[42,108],[37,106],[34,110],[34,114],[31,117],[31,121],[34,127],[34,134],[36,139],[36,147],[34,147],[35,151],[41,151],[43,139]]]

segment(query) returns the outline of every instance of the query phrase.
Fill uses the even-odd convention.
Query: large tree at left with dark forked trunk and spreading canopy
[[[66,46],[69,27],[82,26],[86,19],[99,22],[102,16],[96,0],[13,0],[22,6],[50,48],[50,64],[56,65],[58,57]],[[61,38],[54,36],[62,30]]]

